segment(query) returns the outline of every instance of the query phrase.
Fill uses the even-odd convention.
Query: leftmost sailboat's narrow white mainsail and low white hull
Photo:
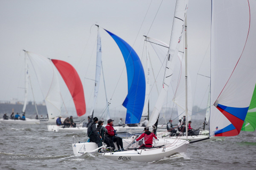
[[[24,114],[24,115],[26,113],[26,106],[27,106],[27,100],[28,100],[28,87],[29,87],[29,81],[30,81],[29,67],[28,67],[28,61],[27,61],[28,57],[26,56],[26,54],[27,53],[25,51],[25,99],[24,99],[24,104],[23,104],[23,108],[22,108],[22,114]],[[30,81],[30,87],[31,87],[31,92],[32,92],[33,97],[34,97],[34,92],[33,92],[31,81]],[[36,114],[38,116],[38,111],[37,111],[37,107],[36,107],[35,98],[34,98],[34,105],[35,105],[35,109],[36,109]],[[12,120],[12,119],[3,120],[3,118],[1,118],[0,122],[1,123],[7,123],[7,124],[40,124],[40,120],[30,119],[30,118],[27,118],[27,117],[26,117],[26,120]]]

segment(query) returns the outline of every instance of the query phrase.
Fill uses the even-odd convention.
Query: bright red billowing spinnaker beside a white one
[[[84,115],[86,112],[84,89],[75,68],[69,63],[61,60],[52,60],[52,63],[60,72],[61,77],[65,81],[68,90],[73,97],[77,116]]]

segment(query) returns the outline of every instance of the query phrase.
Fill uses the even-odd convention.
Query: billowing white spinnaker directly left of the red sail
[[[36,72],[36,77],[45,99],[49,119],[59,116],[61,113],[61,97],[55,66],[48,58],[31,52],[26,53]]]

